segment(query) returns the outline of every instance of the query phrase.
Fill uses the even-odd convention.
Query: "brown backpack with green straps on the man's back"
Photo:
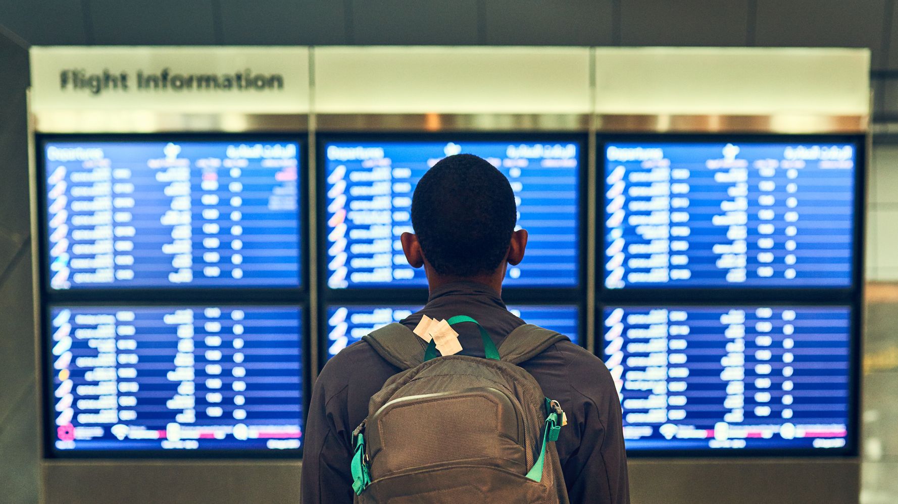
[[[404,369],[387,380],[353,432],[356,504],[568,504],[552,441],[567,422],[516,364],[567,336],[517,327],[499,345],[471,317],[486,358],[440,357],[394,323],[364,336],[383,359]]]

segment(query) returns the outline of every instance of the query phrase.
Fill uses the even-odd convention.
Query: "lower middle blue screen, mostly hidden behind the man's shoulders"
[[[356,343],[362,336],[370,334],[374,329],[401,322],[421,307],[402,306],[386,307],[383,305],[366,306],[330,306],[328,307],[328,341],[327,358],[348,345]],[[568,336],[570,341],[579,343],[579,315],[574,306],[517,305],[509,306],[508,311],[523,318],[527,324],[545,327]]]

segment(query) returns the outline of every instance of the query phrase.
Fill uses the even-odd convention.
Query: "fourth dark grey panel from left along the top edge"
[[[352,42],[360,45],[472,45],[476,0],[353,0]]]

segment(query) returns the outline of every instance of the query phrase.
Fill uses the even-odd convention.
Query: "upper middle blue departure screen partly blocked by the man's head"
[[[328,286],[427,285],[409,266],[400,236],[412,231],[411,198],[437,161],[457,153],[486,159],[511,182],[518,229],[530,234],[524,261],[506,287],[573,287],[579,265],[577,143],[380,142],[325,146]]]

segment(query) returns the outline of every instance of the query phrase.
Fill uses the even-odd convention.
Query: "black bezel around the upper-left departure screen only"
[[[299,221],[299,243],[297,249],[304,260],[298,261],[300,268],[296,286],[269,286],[269,287],[193,287],[190,285],[161,285],[161,286],[132,286],[121,285],[118,287],[82,287],[66,290],[56,290],[49,285],[49,233],[48,233],[48,206],[47,206],[47,161],[44,152],[48,143],[97,143],[97,142],[121,142],[121,143],[156,143],[156,142],[282,142],[296,143],[299,146],[297,155],[298,179],[296,219]],[[38,188],[38,226],[40,230],[40,285],[41,293],[52,300],[132,300],[139,302],[150,299],[203,299],[203,300],[230,300],[227,291],[241,291],[242,296],[253,300],[284,300],[285,295],[293,295],[296,300],[305,298],[309,289],[308,257],[311,252],[309,246],[309,215],[308,204],[303,204],[308,195],[308,145],[301,133],[277,133],[277,134],[237,134],[237,133],[176,133],[176,134],[102,134],[102,135],[38,135],[37,136],[36,167]],[[303,267],[303,266],[306,267]],[[173,296],[173,297],[172,297]]]

